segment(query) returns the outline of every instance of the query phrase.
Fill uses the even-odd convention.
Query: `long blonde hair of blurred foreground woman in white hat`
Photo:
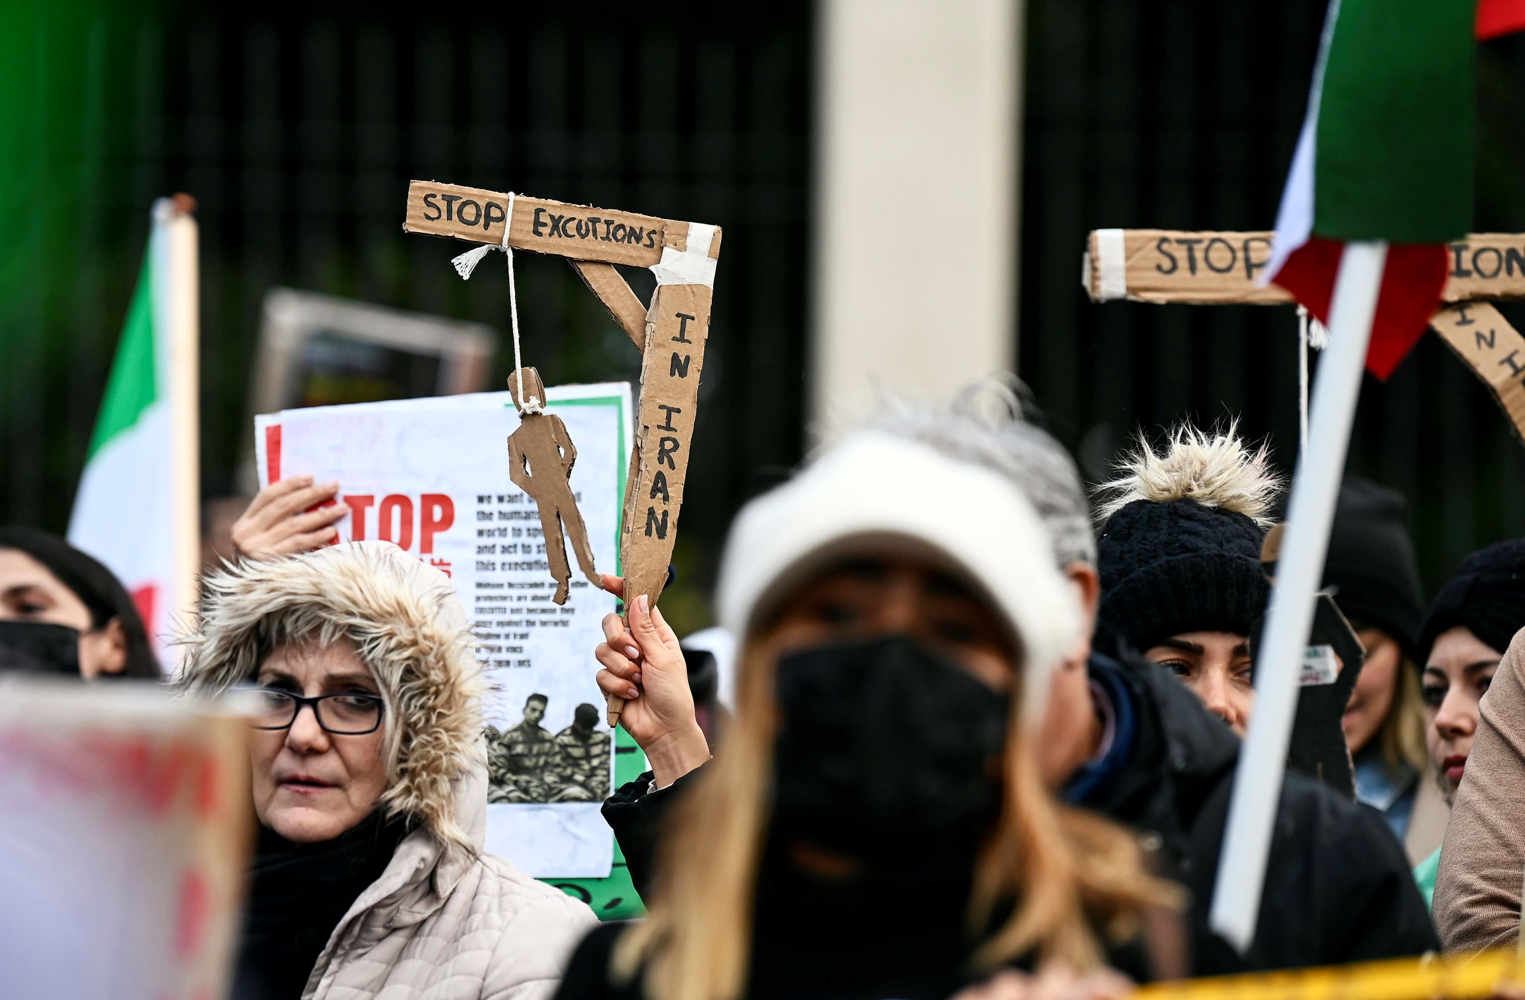
[[[650,915],[615,948],[616,982],[630,982],[645,968],[648,997],[734,1000],[746,988],[779,713],[776,649],[749,640],[740,662],[726,752],[706,765],[698,787],[676,806],[674,825],[660,845]],[[1145,870],[1130,834],[1054,800],[1017,729],[1020,718],[1019,691],[1005,748],[1000,819],[976,867],[971,936],[990,925],[1002,902],[1016,898],[1017,907],[979,945],[974,965],[994,968],[1034,951],[1078,970],[1095,968],[1103,950],[1093,925],[1125,938],[1138,928],[1141,910],[1174,909],[1182,896]]]

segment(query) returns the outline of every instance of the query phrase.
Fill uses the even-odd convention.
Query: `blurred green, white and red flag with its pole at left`
[[[156,648],[194,605],[198,562],[197,227],[185,195],[152,232],[75,494],[69,541],[137,604]]]

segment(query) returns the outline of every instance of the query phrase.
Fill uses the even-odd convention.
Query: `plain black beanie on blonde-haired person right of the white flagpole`
[[[1403,494],[1347,476],[1334,508],[1324,585],[1357,628],[1380,628],[1418,662],[1424,595]]]

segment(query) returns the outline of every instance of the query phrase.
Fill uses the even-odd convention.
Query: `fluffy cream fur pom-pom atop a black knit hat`
[[[1096,508],[1096,520],[1106,521],[1135,500],[1196,500],[1270,527],[1281,474],[1270,466],[1270,448],[1261,444],[1250,451],[1237,430],[1237,421],[1225,431],[1177,424],[1159,453],[1139,431],[1138,450],[1118,462],[1121,476],[1096,486],[1098,494],[1112,494]]]

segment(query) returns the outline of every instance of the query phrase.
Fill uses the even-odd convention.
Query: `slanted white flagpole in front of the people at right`
[[[1383,241],[1348,242],[1334,277],[1330,346],[1319,361],[1308,444],[1292,483],[1266,639],[1255,662],[1255,713],[1234,771],[1234,797],[1208,915],[1209,927],[1241,953],[1255,938],[1266,855],[1298,709],[1298,663],[1313,627],[1313,602],[1386,261]]]

